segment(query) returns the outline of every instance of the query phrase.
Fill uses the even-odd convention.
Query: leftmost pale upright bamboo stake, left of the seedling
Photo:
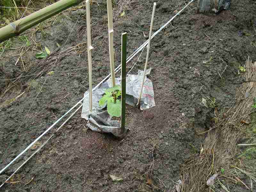
[[[90,112],[92,112],[92,40],[91,40],[91,18],[90,18],[90,0],[86,0],[86,29],[87,29],[87,57],[89,72],[89,102]]]

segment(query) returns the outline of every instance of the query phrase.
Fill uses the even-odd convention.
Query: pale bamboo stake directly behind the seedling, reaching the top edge
[[[110,73],[112,79],[112,87],[115,87],[115,71],[114,71],[114,47],[113,47],[113,12],[112,12],[112,2],[107,0],[108,9],[108,50],[109,50],[109,61],[110,61]]]

